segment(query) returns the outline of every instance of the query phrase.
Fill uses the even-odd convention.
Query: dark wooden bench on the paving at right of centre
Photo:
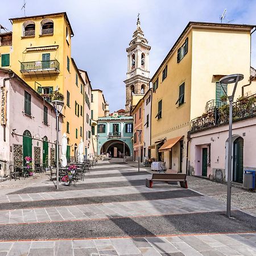
[[[187,174],[152,174],[150,180],[146,179],[146,187],[152,188],[153,181],[164,181],[171,184],[172,181],[179,181],[181,188],[188,188]]]

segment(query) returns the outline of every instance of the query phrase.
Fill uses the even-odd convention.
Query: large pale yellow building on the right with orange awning
[[[190,122],[205,112],[207,104],[220,102],[220,78],[244,75],[235,98],[250,82],[253,28],[189,22],[152,77],[151,156],[166,162],[167,169],[186,172]],[[232,89],[229,85],[228,92]]]

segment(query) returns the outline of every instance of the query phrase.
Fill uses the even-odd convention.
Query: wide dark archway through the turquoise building
[[[123,144],[125,144],[125,155],[130,156],[131,152],[129,146],[125,142],[119,141],[119,139],[111,139],[110,141],[105,142],[101,146],[100,152],[101,154],[109,153],[114,158],[123,157]]]

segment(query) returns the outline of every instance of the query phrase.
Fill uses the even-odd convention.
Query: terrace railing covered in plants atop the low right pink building
[[[212,100],[214,101],[214,100]],[[229,122],[229,103],[226,96],[221,97],[221,103],[215,105],[207,102],[205,113],[191,121],[190,131],[199,131],[206,127],[212,127],[221,123]],[[213,105],[210,105],[213,104]],[[249,97],[240,97],[233,103],[233,121],[246,117],[256,116],[256,94]]]

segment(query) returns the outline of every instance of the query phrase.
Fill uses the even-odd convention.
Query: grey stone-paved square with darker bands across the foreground
[[[256,255],[256,218],[236,207],[225,217],[224,184],[150,189],[146,171],[100,162],[57,192],[48,174],[1,183],[0,256]]]

